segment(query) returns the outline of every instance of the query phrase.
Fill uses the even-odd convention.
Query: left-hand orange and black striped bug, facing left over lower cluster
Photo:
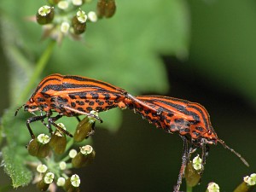
[[[24,107],[25,111],[35,115],[26,120],[26,126],[32,138],[35,136],[30,124],[34,121],[42,121],[50,132],[52,132],[50,125],[54,125],[72,137],[68,131],[64,131],[55,124],[57,119],[62,116],[77,117],[84,114],[93,116],[102,122],[102,119],[91,114],[90,111],[102,112],[111,108],[125,108],[123,101],[125,99],[129,101],[130,97],[133,98],[125,90],[96,79],[52,74],[38,84],[28,102],[20,108]],[[20,108],[17,109],[15,115]],[[40,115],[34,113],[36,111],[39,111]],[[52,111],[58,114],[52,117]],[[44,122],[45,118],[48,118],[48,123]]]

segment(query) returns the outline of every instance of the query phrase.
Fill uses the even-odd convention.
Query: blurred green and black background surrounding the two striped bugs
[[[250,167],[222,146],[211,146],[195,191],[205,191],[212,181],[221,191],[232,191],[256,170],[255,1],[116,3],[116,15],[88,25],[83,42],[67,38],[55,47],[38,82],[49,73],[79,74],[119,85],[133,95],[200,102],[211,114],[218,137]],[[41,26],[26,20],[44,1],[22,4],[26,9],[17,1],[2,0],[0,5],[1,115],[12,103],[26,102],[17,103],[20,92],[48,44],[40,40]],[[95,9],[91,4],[84,9]],[[109,113],[102,114],[104,124],[96,126],[93,136],[95,163],[79,170],[82,191],[172,191],[181,163],[180,137],[157,130],[131,111]],[[24,126],[16,131],[28,135],[22,120]],[[3,170],[2,175],[0,185],[10,183]]]

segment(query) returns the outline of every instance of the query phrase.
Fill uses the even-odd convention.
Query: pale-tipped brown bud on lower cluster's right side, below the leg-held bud
[[[79,168],[82,166],[87,166],[95,159],[95,151],[90,145],[85,145],[80,148],[79,154],[77,154],[73,160],[72,165],[75,168]]]

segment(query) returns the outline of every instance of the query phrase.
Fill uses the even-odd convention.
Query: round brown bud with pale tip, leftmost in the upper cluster
[[[50,23],[54,19],[54,16],[54,8],[49,7],[48,5],[44,5],[43,7],[38,9],[36,18],[40,25],[45,25]]]

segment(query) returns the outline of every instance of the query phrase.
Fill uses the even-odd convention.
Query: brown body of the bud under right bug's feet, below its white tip
[[[201,175],[195,170],[193,163],[190,161],[185,168],[184,177],[189,187],[195,187],[200,182]]]

